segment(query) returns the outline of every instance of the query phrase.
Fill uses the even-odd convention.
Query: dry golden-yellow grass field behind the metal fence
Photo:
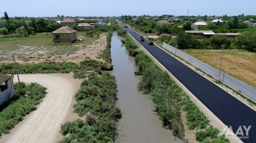
[[[220,68],[221,50],[186,49],[185,53]],[[256,88],[256,53],[241,49],[224,50],[222,70],[230,76]]]

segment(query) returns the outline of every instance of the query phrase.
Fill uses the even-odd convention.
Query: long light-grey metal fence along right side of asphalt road
[[[225,72],[220,72],[216,68],[210,66],[207,63],[202,62],[199,59],[192,57],[189,54],[184,53],[183,51],[176,49],[175,47],[166,44],[163,42],[163,47],[168,51],[171,51],[173,54],[176,54],[177,57],[184,59],[185,61],[189,62],[193,66],[199,68],[200,70],[208,73],[208,75],[212,76],[214,79],[217,79],[228,85],[230,88],[236,90],[237,92],[243,94],[243,96],[251,99],[251,101],[256,102],[256,89],[243,83],[240,80],[235,79],[234,77],[226,74]],[[220,75],[220,77],[219,77]]]

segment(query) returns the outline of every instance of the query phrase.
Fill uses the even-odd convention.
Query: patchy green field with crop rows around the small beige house
[[[85,49],[86,46],[92,44],[100,36],[98,34],[91,37],[86,36],[83,32],[77,32],[77,38],[82,41],[60,44],[53,43],[51,33],[22,38],[0,38],[0,61],[9,60],[11,55],[17,55],[23,62],[59,58],[61,55],[68,56],[80,49]]]

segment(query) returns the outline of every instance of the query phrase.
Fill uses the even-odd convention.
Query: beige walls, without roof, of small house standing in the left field
[[[56,35],[59,34],[59,37]],[[73,33],[53,33],[53,42],[73,42],[77,40],[76,32]]]

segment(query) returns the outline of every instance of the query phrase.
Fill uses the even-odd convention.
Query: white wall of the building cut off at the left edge
[[[10,88],[11,88],[10,99],[15,96],[15,90],[13,86],[11,86],[11,79],[7,81],[7,87],[8,88],[6,90],[3,90],[2,92],[0,91],[0,106],[2,106],[4,102],[8,101]]]

